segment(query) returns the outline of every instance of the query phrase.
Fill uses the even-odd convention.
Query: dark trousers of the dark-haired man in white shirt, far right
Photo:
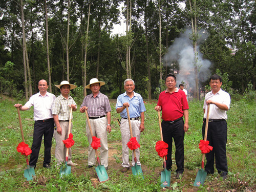
[[[204,138],[205,121],[202,127],[202,133]],[[216,168],[218,173],[223,176],[227,175],[227,156],[226,156],[226,144],[227,144],[227,122],[216,121],[209,122],[207,140],[209,145],[212,146],[212,151],[206,154],[206,165],[204,167],[208,174],[214,174],[214,161],[216,161]]]

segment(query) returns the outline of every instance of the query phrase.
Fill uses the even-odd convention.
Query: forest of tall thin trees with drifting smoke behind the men
[[[1,1],[0,93],[28,100],[46,79],[57,95],[54,84],[68,80],[78,86],[73,94],[80,100],[87,94],[83,87],[96,77],[106,83],[101,92],[115,99],[123,80],[133,78],[136,92],[152,99],[164,89],[164,76],[176,74],[177,84],[183,82],[198,100],[216,72],[226,76],[230,94],[255,90],[255,4]],[[121,16],[125,34],[114,34]]]

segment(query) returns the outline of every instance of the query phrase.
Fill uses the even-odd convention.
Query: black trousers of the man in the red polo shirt
[[[169,123],[167,121],[162,121],[162,133],[163,141],[168,144],[168,154],[166,159],[166,168],[172,169],[172,149],[173,149],[173,138],[175,143],[175,161],[177,165],[176,172],[184,172],[184,121],[183,119],[175,122]]]

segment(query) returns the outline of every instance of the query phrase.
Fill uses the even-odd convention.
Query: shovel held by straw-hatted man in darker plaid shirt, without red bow
[[[85,112],[86,112],[86,118],[87,118],[87,122],[89,125],[90,133],[91,133],[91,136],[93,137],[93,131],[92,131],[91,123],[89,120],[88,112],[87,112],[87,110]],[[95,154],[96,154],[97,161],[98,161],[98,166],[95,167],[95,170],[96,170],[99,182],[108,181],[109,180],[108,173],[106,173],[106,169],[105,169],[104,165],[100,164],[97,150],[95,150]]]

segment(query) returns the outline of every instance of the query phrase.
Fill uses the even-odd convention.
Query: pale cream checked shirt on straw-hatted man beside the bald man
[[[70,95],[68,99],[66,99],[60,94],[60,96],[58,96],[52,104],[52,114],[58,115],[59,121],[69,120],[69,115],[70,115],[69,105],[71,104],[76,105],[76,102]],[[73,119],[73,115],[72,115],[72,119]]]

